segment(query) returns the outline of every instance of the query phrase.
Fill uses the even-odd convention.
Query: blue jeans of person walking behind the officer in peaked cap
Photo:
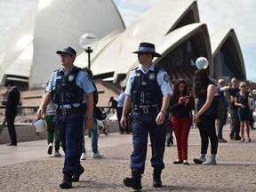
[[[85,127],[83,128],[83,135],[85,132]],[[96,120],[96,115],[95,112],[93,111],[92,113],[92,152],[94,154],[98,153],[98,127],[97,127],[97,120]],[[83,153],[86,153],[86,149],[85,149],[85,140],[83,137]]]

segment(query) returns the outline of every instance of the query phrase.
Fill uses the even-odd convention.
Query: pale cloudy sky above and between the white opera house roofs
[[[126,26],[142,12],[161,3],[161,0],[113,1]],[[15,28],[24,12],[35,3],[36,0],[0,0],[0,34]],[[200,21],[207,24],[210,36],[220,28],[235,29],[247,79],[256,82],[256,0],[197,0],[197,5]]]

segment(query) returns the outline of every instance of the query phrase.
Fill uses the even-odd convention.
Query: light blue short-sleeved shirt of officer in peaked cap
[[[73,65],[74,67],[74,65]],[[72,68],[73,68],[72,67]],[[72,69],[70,68],[68,71],[64,71],[63,68],[60,68],[59,70],[57,71],[54,71],[52,73],[52,76],[50,78],[50,81],[49,81],[49,84],[46,88],[46,92],[52,92],[52,87],[55,86],[56,84],[56,78],[57,78],[57,72],[62,70],[64,72],[64,74],[67,74],[70,72],[70,70]],[[91,92],[94,92],[95,91],[95,88],[94,86],[92,85],[92,81],[90,79],[90,77],[88,76],[87,72],[86,71],[79,71],[77,76],[76,76],[76,85],[79,86],[80,88],[82,88],[84,90],[84,93],[85,94],[88,94],[88,93],[91,93]],[[80,104],[74,104],[74,107],[79,107]],[[70,108],[70,106],[68,105],[67,107],[64,106],[64,108]]]

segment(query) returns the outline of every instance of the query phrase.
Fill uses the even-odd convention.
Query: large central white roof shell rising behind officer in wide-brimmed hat
[[[115,72],[126,74],[137,63],[136,55],[131,53],[138,49],[140,42],[156,44],[156,51],[161,46],[164,36],[172,31],[179,21],[188,14],[193,16],[191,22],[198,22],[198,10],[196,1],[168,1],[162,0],[153,8],[141,14],[124,33],[115,36],[108,46],[100,45],[92,53],[92,71],[94,75]],[[97,55],[100,52],[100,55]],[[95,58],[94,58],[95,57]],[[101,70],[99,70],[101,68]]]

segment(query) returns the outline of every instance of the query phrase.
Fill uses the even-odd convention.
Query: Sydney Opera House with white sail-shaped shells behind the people
[[[112,0],[39,0],[20,20],[17,28],[0,36],[0,82],[15,81],[23,90],[42,87],[52,71],[60,68],[55,53],[64,46],[77,51],[76,66],[87,67],[88,58],[79,39],[84,33],[98,37],[91,54],[94,77],[114,84],[123,82],[138,66],[140,42],[156,44],[156,65],[173,79],[191,83],[195,61],[209,60],[212,79],[236,76],[246,81],[243,55],[236,32],[223,28],[212,36],[201,23],[195,0],[159,0],[129,27]],[[228,27],[228,26],[227,26]]]

